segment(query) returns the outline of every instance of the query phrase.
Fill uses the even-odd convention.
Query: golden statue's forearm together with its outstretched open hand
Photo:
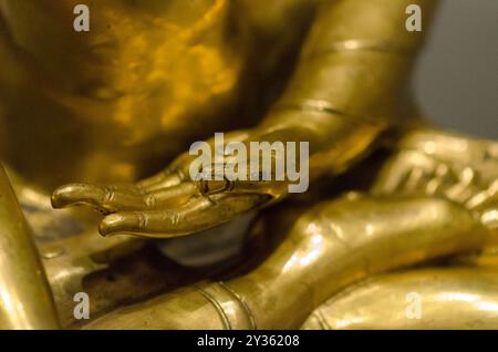
[[[430,13],[432,1],[421,1],[421,4],[425,13]],[[257,127],[232,133],[229,139],[247,144],[255,141],[309,141],[312,179],[346,168],[352,161],[365,154],[381,132],[395,125],[396,121],[411,116],[413,108],[406,91],[407,73],[414,60],[390,51],[350,52],[347,48],[329,51],[328,45],[351,40],[390,40],[403,42],[415,50],[423,42],[422,34],[393,31],[391,27],[369,27],[365,32],[363,27],[357,25],[359,21],[364,20],[362,15],[349,15],[357,12],[372,22],[386,21],[391,25],[402,27],[405,22],[402,10],[406,6],[406,1],[395,6],[386,1],[369,4],[357,1],[324,3],[295,72],[276,108]],[[378,11],[378,8],[383,10]],[[349,31],[344,32],[344,28]],[[323,50],[325,54],[321,53]],[[382,89],[377,82],[382,82]],[[307,108],[310,101],[320,102],[328,108]],[[219,188],[216,183],[199,188],[189,178],[193,159],[195,157],[184,154],[165,172],[136,185],[66,185],[55,190],[52,204],[56,208],[86,204],[107,214],[100,226],[103,235],[133,232],[170,237],[212,227],[236,214],[260,208],[286,196],[286,184],[279,182],[256,182],[250,187],[242,183],[241,189],[236,186],[229,190]],[[210,194],[209,199],[206,193]]]

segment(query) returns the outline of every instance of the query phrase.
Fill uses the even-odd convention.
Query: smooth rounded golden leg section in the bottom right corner
[[[496,270],[452,268],[391,273],[352,287],[320,307],[303,329],[498,329]],[[407,294],[422,298],[407,317]]]

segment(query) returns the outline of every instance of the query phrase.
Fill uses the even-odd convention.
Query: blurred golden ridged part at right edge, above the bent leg
[[[498,229],[498,142],[416,131],[397,148],[381,170],[374,194],[444,196]]]

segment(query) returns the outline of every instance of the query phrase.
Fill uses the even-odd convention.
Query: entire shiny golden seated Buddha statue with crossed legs
[[[498,144],[428,127],[411,95],[437,1],[106,0],[76,32],[79,2],[0,0],[0,158],[19,199],[1,173],[0,328],[496,327],[479,251],[497,239]],[[194,179],[186,151],[217,132],[309,143],[310,190]],[[164,255],[260,209],[235,255]],[[415,324],[372,296],[355,312],[372,284],[454,309]],[[445,301],[459,292],[483,304]]]

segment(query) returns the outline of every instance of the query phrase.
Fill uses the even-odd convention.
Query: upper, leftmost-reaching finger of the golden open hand
[[[145,206],[142,193],[134,186],[96,186],[91,184],[62,186],[52,194],[51,201],[54,208],[87,205],[103,214]]]

